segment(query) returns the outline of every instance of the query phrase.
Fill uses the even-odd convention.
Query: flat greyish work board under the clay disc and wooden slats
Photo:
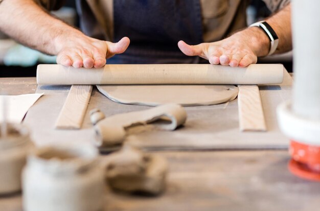
[[[277,124],[277,106],[291,98],[292,78],[285,71],[279,85],[259,86],[267,132],[240,132],[237,99],[212,106],[186,107],[184,127],[176,131],[145,131],[128,136],[128,142],[149,150],[209,150],[209,149],[286,149],[289,140]],[[148,109],[150,107],[124,105],[103,96],[96,88],[92,92],[82,128],[55,129],[55,122],[70,86],[38,86],[36,92],[44,96],[29,110],[24,124],[32,130],[36,144],[77,144],[92,142],[95,132],[89,121],[89,111],[102,110],[106,116]]]

